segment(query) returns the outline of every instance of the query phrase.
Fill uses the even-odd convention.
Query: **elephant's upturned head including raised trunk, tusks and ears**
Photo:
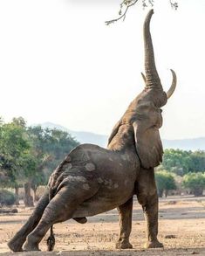
[[[161,163],[163,154],[159,133],[159,128],[162,125],[161,107],[166,105],[167,99],[174,93],[176,86],[176,75],[173,70],[171,70],[173,82],[167,93],[163,91],[161,86],[161,80],[154,62],[154,49],[149,31],[150,19],[153,13],[154,10],[148,12],[144,23],[146,75],[142,73],[142,76],[145,81],[145,88],[131,102],[126,113],[113,128],[113,133],[109,138],[109,148],[112,148],[112,144],[116,144],[113,142],[119,137],[122,127],[124,125],[129,127],[126,131],[129,134],[133,133],[133,141],[141,166],[147,169]]]

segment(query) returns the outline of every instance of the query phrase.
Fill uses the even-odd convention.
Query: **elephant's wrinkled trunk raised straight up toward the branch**
[[[161,80],[155,66],[153,42],[149,31],[150,19],[153,14],[154,10],[150,10],[144,23],[146,86],[162,89]]]

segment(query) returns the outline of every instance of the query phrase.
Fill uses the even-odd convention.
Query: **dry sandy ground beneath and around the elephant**
[[[11,255],[7,242],[24,224],[32,209],[18,208],[18,213],[0,215],[0,255]],[[132,250],[114,249],[119,222],[116,210],[88,218],[85,225],[73,220],[54,226],[56,246],[53,253],[15,253],[16,255],[205,255],[205,197],[168,197],[160,201],[159,239],[164,249],[143,249],[145,221],[140,205],[134,200]],[[40,248],[46,250],[45,239]]]

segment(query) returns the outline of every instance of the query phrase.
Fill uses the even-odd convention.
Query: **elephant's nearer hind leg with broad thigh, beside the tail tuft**
[[[28,235],[24,250],[38,251],[38,245],[51,225],[72,218],[73,212],[79,204],[92,197],[95,192],[96,190],[83,190],[81,183],[71,187],[66,186],[59,190],[45,208],[38,226]]]

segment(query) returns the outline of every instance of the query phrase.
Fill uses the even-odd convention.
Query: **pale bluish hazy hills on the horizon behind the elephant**
[[[72,131],[68,128],[65,128],[61,125],[51,123],[51,122],[44,122],[40,124],[43,128],[58,128],[69,132],[72,137],[76,138],[77,141],[80,143],[92,143],[97,144],[101,147],[106,148],[108,135],[98,135],[91,132],[84,132],[84,131]],[[194,139],[182,139],[182,140],[163,140],[163,147],[164,149],[183,149],[183,150],[205,150],[205,137],[201,138],[194,138]]]

